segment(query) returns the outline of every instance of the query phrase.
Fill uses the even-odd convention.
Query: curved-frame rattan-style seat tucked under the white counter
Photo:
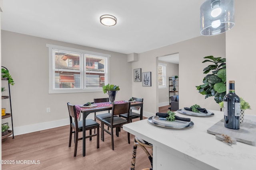
[[[151,143],[148,143],[147,141],[144,141],[143,139],[140,139],[138,137],[134,138],[134,145],[133,145],[133,151],[132,151],[132,164],[131,164],[131,170],[134,170],[135,168],[135,159],[136,159],[136,152],[137,152],[137,146],[141,147],[142,150],[147,154],[148,159],[150,161],[151,167],[153,167],[153,145]],[[146,148],[149,148],[152,150],[152,153],[150,154]],[[152,170],[152,168],[146,168],[143,170]]]

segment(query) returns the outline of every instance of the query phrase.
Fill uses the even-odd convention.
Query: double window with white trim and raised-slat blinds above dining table
[[[108,84],[110,55],[49,47],[49,93],[99,92]]]

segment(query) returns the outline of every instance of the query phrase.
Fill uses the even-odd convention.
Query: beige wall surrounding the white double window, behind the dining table
[[[93,98],[108,97],[103,92],[48,94],[46,43],[110,54],[110,83],[120,86],[116,100],[128,100],[132,96],[132,72],[127,55],[2,30],[2,65],[10,70],[15,82],[11,86],[11,95],[16,133],[33,124],[38,124],[38,127],[60,120],[66,120],[68,124],[67,102],[84,104],[93,102]],[[46,107],[50,107],[50,113],[46,113]]]

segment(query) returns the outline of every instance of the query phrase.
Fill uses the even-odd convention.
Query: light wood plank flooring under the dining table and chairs
[[[159,112],[166,113],[168,107],[160,107]],[[73,157],[74,143],[68,147],[69,125],[17,135],[14,139],[8,137],[2,140],[2,160],[13,160],[14,164],[2,164],[2,170],[129,170],[134,135],[130,135],[131,142],[128,144],[127,132],[121,129],[119,137],[114,135],[114,150],[111,148],[111,136],[107,133],[104,136],[99,149],[96,149],[96,137],[92,141],[86,139],[85,157],[82,156],[82,141],[78,141],[77,155]],[[37,164],[33,164],[35,162]],[[138,147],[135,169],[150,166],[145,152]]]

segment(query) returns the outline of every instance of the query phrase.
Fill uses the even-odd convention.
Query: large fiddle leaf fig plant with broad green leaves
[[[202,63],[211,62],[212,64],[204,68],[204,74],[207,74],[202,85],[196,86],[198,92],[205,95],[205,98],[214,96],[216,103],[223,101],[226,95],[226,59],[221,57],[207,56]]]

